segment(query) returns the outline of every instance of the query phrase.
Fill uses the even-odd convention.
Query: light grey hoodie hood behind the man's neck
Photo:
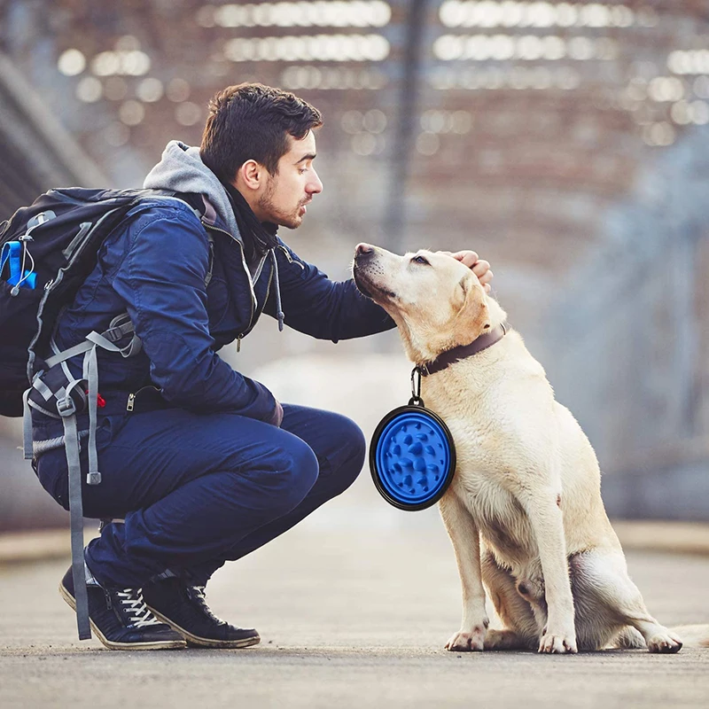
[[[219,178],[202,162],[199,148],[171,140],[160,162],[145,177],[143,186],[149,190],[204,195],[230,233],[243,243],[229,195]]]

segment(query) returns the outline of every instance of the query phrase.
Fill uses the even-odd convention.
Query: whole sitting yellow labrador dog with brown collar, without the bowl
[[[353,273],[393,317],[411,362],[432,370],[421,395],[456,442],[456,477],[439,503],[463,586],[448,650],[679,651],[627,575],[593,448],[471,269],[445,253],[360,244]],[[477,354],[456,349],[483,340]],[[487,627],[484,586],[502,630]]]

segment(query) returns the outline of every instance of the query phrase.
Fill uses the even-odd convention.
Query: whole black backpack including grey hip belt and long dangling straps
[[[160,190],[50,190],[30,206],[20,207],[0,224],[0,415],[24,416],[25,458],[37,454],[32,440],[30,408],[60,418],[62,445],[69,471],[72,571],[79,638],[90,638],[89,610],[84,582],[82,479],[79,450],[88,433],[87,484],[98,485],[97,468],[97,355],[96,348],[136,354],[140,340],[127,313],[113,318],[102,333],[90,332],[86,340],[59,352],[53,331],[62,310],[74,301],[79,287],[97,263],[105,239],[125,222],[134,207],[148,199],[180,199],[201,216],[199,195]],[[134,216],[142,210],[134,211]],[[211,241],[210,241],[211,247]],[[210,269],[207,276],[211,277]],[[117,343],[129,336],[125,347]],[[43,359],[37,353],[51,352]],[[74,378],[66,360],[84,354],[82,378]],[[89,410],[90,429],[77,430],[76,414]],[[37,454],[38,455],[38,454]]]

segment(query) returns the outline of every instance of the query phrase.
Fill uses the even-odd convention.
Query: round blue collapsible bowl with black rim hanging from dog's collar
[[[394,409],[372,436],[370,471],[387,503],[409,511],[431,507],[456,471],[456,447],[448,426],[423,406]]]

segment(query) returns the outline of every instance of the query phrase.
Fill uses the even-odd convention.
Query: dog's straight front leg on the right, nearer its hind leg
[[[522,501],[539,549],[547,625],[539,643],[540,652],[576,652],[573,596],[566,557],[564,518],[556,490],[534,491]]]

